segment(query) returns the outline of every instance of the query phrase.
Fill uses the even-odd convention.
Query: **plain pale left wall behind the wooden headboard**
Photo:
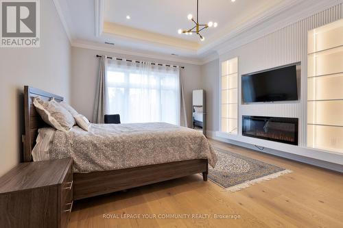
[[[68,100],[71,47],[52,0],[40,1],[40,47],[0,48],[0,176],[19,163],[23,134],[23,87]]]

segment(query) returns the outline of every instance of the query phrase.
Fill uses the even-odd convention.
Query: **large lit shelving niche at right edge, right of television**
[[[343,20],[308,35],[307,147],[343,153]]]

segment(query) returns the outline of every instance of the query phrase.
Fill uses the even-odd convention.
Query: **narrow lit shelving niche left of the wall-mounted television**
[[[222,62],[221,85],[221,131],[237,135],[238,58]]]

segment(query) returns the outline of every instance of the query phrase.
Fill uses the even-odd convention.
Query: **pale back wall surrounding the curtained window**
[[[179,62],[169,62],[165,60],[154,60],[139,56],[123,55],[72,47],[72,81],[71,81],[71,104],[75,110],[84,114],[88,119],[93,118],[93,107],[95,100],[95,91],[97,87],[97,75],[99,71],[99,58],[95,55],[108,55],[117,58],[126,58],[128,60],[143,60],[148,62],[158,62],[165,64],[174,64],[185,66],[180,69],[180,74],[184,80],[185,103],[187,107],[187,121],[191,126],[191,96],[192,90],[201,89],[200,66],[193,64],[180,64]]]

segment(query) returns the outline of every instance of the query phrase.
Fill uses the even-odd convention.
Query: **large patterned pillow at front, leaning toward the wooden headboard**
[[[69,131],[75,125],[75,120],[70,112],[56,101],[44,101],[39,97],[35,97],[34,106],[43,121],[51,127],[55,127],[60,131]]]

